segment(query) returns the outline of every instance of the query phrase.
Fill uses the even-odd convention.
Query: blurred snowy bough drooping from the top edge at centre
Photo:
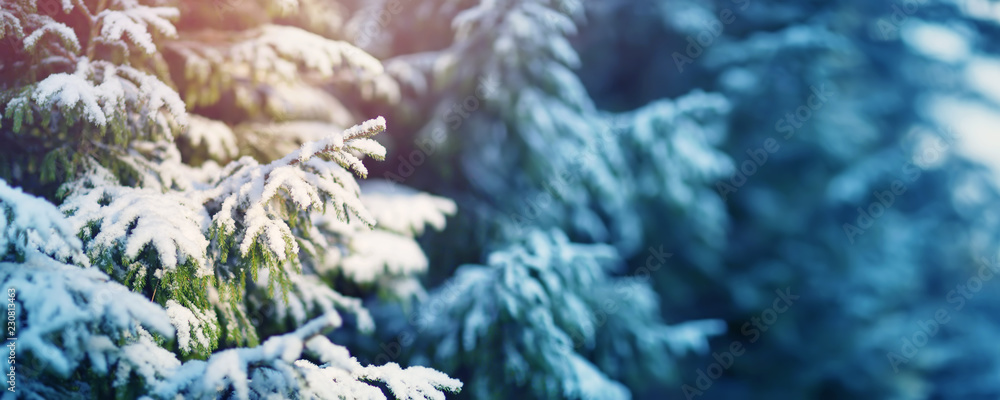
[[[643,239],[638,210],[630,202],[635,185],[627,175],[633,167],[611,137],[614,128],[599,116],[571,70],[580,60],[568,36],[582,16],[580,2],[481,2],[455,17],[454,44],[437,56],[434,73],[439,79],[481,81],[476,94],[483,93],[488,113],[463,121],[461,132],[477,134],[456,136],[462,142],[461,170],[482,198],[491,199],[483,200],[485,206],[498,208],[501,215],[491,221],[501,225],[502,236],[519,237],[529,225],[524,202],[505,200],[507,194],[550,196],[554,204],[531,217],[530,225],[614,243],[631,253]],[[477,40],[492,43],[492,51],[464,45]],[[447,109],[455,100],[461,97],[439,107]],[[492,172],[497,168],[522,173],[504,179]]]

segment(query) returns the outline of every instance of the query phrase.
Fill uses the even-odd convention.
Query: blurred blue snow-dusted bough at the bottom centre
[[[468,365],[480,395],[514,385],[508,390],[527,386],[546,398],[628,398],[621,384],[574,352],[571,338],[592,339],[584,296],[614,258],[608,247],[574,248],[558,234],[536,232],[525,247],[492,253],[488,266],[460,267],[426,303],[445,310],[425,311],[425,327],[442,335],[431,339],[441,341],[435,356],[444,361],[459,356],[459,349],[495,352],[490,357],[502,360],[509,381],[489,381],[496,366]],[[508,328],[517,333],[498,337],[490,327],[501,320],[517,321]]]

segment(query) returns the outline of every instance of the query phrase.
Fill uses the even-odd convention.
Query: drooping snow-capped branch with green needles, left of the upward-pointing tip
[[[60,208],[84,238],[91,263],[134,290],[152,285],[152,300],[168,299],[181,352],[211,353],[219,327],[205,293],[214,263],[206,256],[204,207],[180,193],[120,186],[95,162],[64,190]]]

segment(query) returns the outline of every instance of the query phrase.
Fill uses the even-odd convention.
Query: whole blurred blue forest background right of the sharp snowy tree
[[[459,203],[425,242],[437,296],[457,285],[488,304],[439,303],[430,314],[452,325],[421,330],[430,339],[404,353],[455,373],[473,397],[615,397],[603,379],[635,398],[1000,396],[1000,3],[583,9],[576,33],[558,19],[525,36],[502,33],[517,30],[509,14],[455,19],[472,33],[455,40],[469,46],[448,76],[468,83],[409,134],[420,143],[448,125],[447,145],[400,180]],[[441,46],[406,32],[393,35],[399,53]],[[498,88],[472,94],[483,77]],[[420,149],[400,145],[378,174],[408,171]],[[549,272],[589,271],[590,256],[504,267],[550,255],[530,244],[538,232],[611,251],[620,259],[599,279],[655,293],[544,284]],[[503,272],[475,278],[473,264]],[[511,274],[526,280],[505,289]],[[538,304],[552,303],[559,330],[586,331],[572,321],[589,318],[593,336],[574,349],[599,378],[560,369],[533,347],[546,323],[494,304],[531,297],[517,294],[529,278],[543,282]],[[568,298],[584,316],[577,300],[556,304]],[[477,332],[477,313],[492,325],[471,350],[462,336],[476,337],[464,332]],[[661,322],[674,329],[649,328]],[[546,389],[533,378],[546,374],[593,390]]]

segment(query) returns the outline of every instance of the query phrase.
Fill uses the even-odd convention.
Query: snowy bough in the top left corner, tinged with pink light
[[[180,96],[159,78],[164,66],[147,64],[162,62],[154,33],[176,35],[168,19],[177,9],[135,0],[5,1],[0,8],[4,44],[12,45],[0,67],[11,78],[0,94],[0,136],[16,143],[13,165],[0,170],[13,172],[5,175],[12,182],[37,188],[72,180],[90,158],[128,174],[115,164],[133,140],[170,141],[186,125]],[[141,54],[129,56],[130,47]]]

